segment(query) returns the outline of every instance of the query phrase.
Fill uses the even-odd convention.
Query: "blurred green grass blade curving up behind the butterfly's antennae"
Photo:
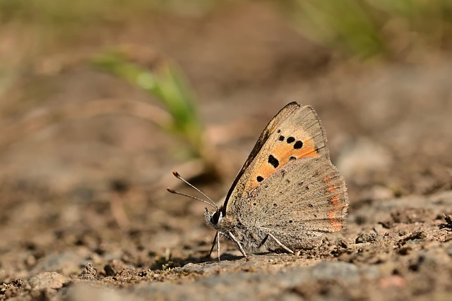
[[[156,60],[150,68],[133,63],[127,51],[115,48],[93,57],[95,68],[116,75],[160,101],[171,118],[156,122],[162,130],[185,140],[191,154],[205,155],[203,126],[196,110],[196,95],[182,69],[169,58]]]

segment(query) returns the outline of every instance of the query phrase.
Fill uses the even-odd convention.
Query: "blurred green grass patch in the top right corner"
[[[422,49],[448,49],[452,1],[272,1],[303,35],[351,56],[404,60]],[[424,51],[429,54],[429,51]]]

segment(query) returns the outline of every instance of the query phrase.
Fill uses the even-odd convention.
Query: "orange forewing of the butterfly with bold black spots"
[[[287,104],[263,130],[254,149],[232,183],[223,205],[223,216],[235,211],[242,194],[291,159],[323,156],[329,160],[325,130],[311,106]]]

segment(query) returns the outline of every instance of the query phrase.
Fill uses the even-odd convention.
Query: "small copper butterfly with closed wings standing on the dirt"
[[[206,208],[205,218],[217,231],[210,252],[216,241],[218,260],[220,235],[234,241],[245,258],[261,247],[292,254],[316,247],[325,233],[343,229],[349,204],[317,113],[297,102],[270,120],[222,207],[210,198],[200,200],[215,208],[212,213]]]

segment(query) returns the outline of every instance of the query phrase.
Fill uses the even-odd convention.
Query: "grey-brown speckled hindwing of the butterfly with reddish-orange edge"
[[[309,249],[345,226],[348,197],[329,159],[302,158],[279,168],[236,205],[237,219],[247,227],[291,249]]]

